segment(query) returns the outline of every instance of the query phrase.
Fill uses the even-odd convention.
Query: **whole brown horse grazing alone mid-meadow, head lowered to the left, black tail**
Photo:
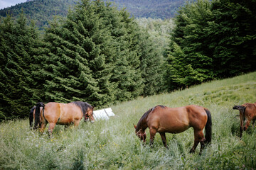
[[[184,106],[180,108],[168,108],[166,106],[156,106],[149,109],[139,120],[137,126],[134,125],[136,135],[145,142],[146,128],[149,128],[150,145],[154,142],[156,132],[161,135],[161,140],[166,148],[166,132],[180,133],[193,127],[194,145],[190,152],[195,152],[198,143],[201,144],[200,154],[206,143],[211,141],[211,115],[207,108],[201,106]],[[206,138],[203,136],[203,128],[206,129]]]

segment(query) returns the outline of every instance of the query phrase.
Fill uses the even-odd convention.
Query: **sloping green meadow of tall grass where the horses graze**
[[[0,169],[252,169],[256,167],[256,128],[239,140],[240,120],[235,104],[256,101],[256,72],[212,81],[184,91],[162,94],[112,106],[108,121],[80,123],[79,128],[58,125],[53,139],[29,130],[28,120],[0,124]],[[158,104],[178,107],[197,104],[210,110],[213,140],[201,156],[189,154],[193,129],[168,134],[165,149],[160,135],[154,147],[134,134],[132,123]]]

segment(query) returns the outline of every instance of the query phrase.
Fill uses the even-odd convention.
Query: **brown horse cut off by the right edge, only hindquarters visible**
[[[252,125],[256,120],[256,103],[245,103],[241,106],[234,106],[233,109],[238,109],[240,112],[240,138],[242,137],[242,130],[247,130],[252,121]],[[243,123],[245,122],[245,126]]]

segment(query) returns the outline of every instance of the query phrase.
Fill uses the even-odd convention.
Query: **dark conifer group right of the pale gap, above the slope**
[[[256,1],[186,4],[167,50],[169,90],[255,70]]]

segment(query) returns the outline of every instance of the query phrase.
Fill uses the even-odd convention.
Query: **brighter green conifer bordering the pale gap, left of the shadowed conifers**
[[[169,90],[213,79],[212,51],[206,44],[205,28],[210,20],[210,2],[186,4],[176,17],[167,58],[166,85]]]

